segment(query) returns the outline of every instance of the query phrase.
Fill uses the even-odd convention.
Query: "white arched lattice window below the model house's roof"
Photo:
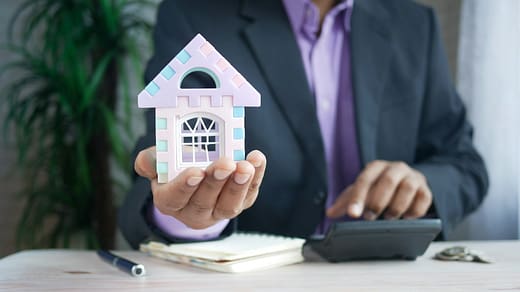
[[[206,166],[220,157],[221,133],[217,118],[203,114],[181,120],[181,165]]]

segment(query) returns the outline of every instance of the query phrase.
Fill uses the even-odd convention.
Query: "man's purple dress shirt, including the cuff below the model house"
[[[354,182],[360,171],[349,43],[353,2],[339,2],[325,16],[320,31],[319,9],[311,0],[283,0],[310,90],[316,98],[327,161],[329,188],[326,207]],[[215,238],[229,222],[223,220],[210,228],[193,230],[175,218],[161,214],[156,208],[153,219],[167,234],[187,239]],[[326,231],[332,222],[324,218],[316,233]]]

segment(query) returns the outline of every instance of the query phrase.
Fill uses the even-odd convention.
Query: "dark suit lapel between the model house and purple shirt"
[[[325,185],[325,154],[314,96],[284,11],[279,0],[245,0],[242,14],[252,22],[244,29],[244,35],[274,99]]]

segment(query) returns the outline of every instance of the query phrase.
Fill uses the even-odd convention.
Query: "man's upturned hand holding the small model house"
[[[155,207],[193,229],[234,218],[251,207],[266,167],[264,154],[255,150],[244,161],[221,158],[206,170],[187,168],[172,181],[159,184],[155,161],[155,147],[150,147],[137,155],[134,166],[140,176],[150,179]]]

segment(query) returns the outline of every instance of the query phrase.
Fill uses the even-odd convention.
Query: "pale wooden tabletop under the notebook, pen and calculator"
[[[496,263],[431,259],[453,245],[482,250]],[[118,254],[143,264],[147,276],[133,278],[92,251],[29,250],[0,260],[0,290],[520,290],[520,241],[433,243],[416,261],[305,262],[245,274],[201,270],[135,251]]]

